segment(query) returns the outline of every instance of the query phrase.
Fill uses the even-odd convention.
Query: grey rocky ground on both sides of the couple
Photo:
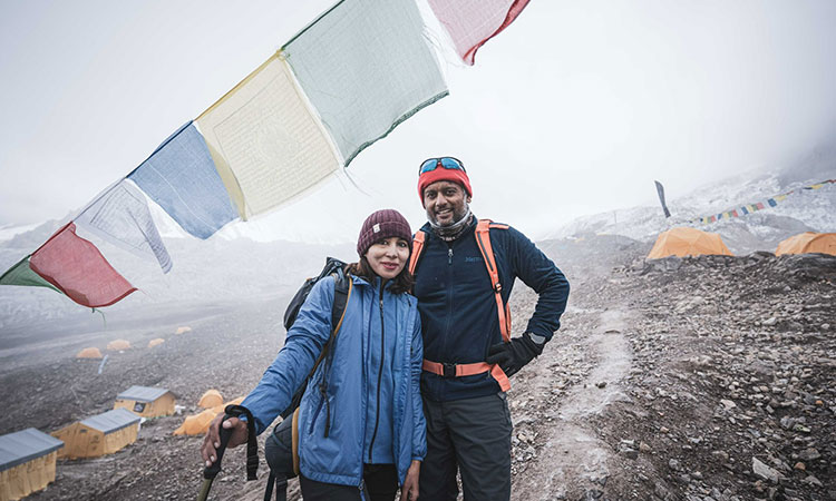
[[[645,245],[615,237],[542,247],[573,289],[558,334],[512,380],[512,499],[836,499],[836,257],[644,262]],[[0,433],[104,412],[130,384],[169,387],[186,413],[210,386],[243,394],[281,344],[282,301],[111,330],[167,341],[111,354],[101,375],[71,358],[82,338],[0,352]],[[517,284],[515,333],[534,301]],[[193,331],[171,335],[183,322]],[[193,499],[201,439],[172,436],[182,420],[145,422],[116,454],[59,461],[31,499]],[[261,499],[265,472],[262,460],[245,482],[231,451],[211,499]]]

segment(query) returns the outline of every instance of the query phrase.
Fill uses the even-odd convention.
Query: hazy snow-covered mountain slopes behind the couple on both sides
[[[668,205],[672,217],[668,219],[659,205],[584,216],[557,228],[541,245],[562,263],[571,262],[575,255],[584,259],[596,255],[603,265],[610,263],[605,254],[618,254],[619,249],[633,245],[649,248],[657,235],[669,227],[796,190],[777,207],[704,226],[694,225],[719,233],[736,254],[775,250],[778,242],[801,232],[836,232],[836,184],[816,190],[799,189],[834,178],[836,147],[819,148],[782,169],[740,174],[671,199]],[[182,303],[184,307],[205,302],[234,304],[265,295],[291,294],[305,277],[321,268],[325,256],[347,261],[356,256],[350,244],[256,242],[235,225],[207,240],[198,240],[186,235],[162,209],[158,213],[154,218],[174,262],[168,274],[163,274],[153,259],[138,259],[95,236],[84,235],[140,289],[108,307],[110,312],[172,303]],[[0,240],[0,272],[38,248],[70,216]],[[591,236],[595,238],[589,238]],[[577,253],[577,248],[583,252]],[[89,315],[89,311],[47,288],[0,287],[0,333],[9,325],[81,314]]]

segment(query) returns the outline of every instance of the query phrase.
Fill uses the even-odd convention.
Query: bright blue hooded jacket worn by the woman
[[[392,429],[381,436],[391,440],[398,479],[404,483],[410,462],[422,460],[427,452],[419,389],[424,348],[417,301],[409,294],[392,294],[390,284],[383,287],[381,296],[380,278],[373,284],[356,276],[352,281],[354,287],[342,327],[329,352],[333,360],[318,366],[300,404],[300,471],[319,482],[360,485],[364,445],[369,442],[368,397],[377,394],[377,374],[368,374],[364,367],[369,366],[371,336],[380,337],[382,327],[386,336],[395,336],[395,343],[387,343],[393,346],[393,353],[385,354],[393,381],[389,386],[381,385],[393,389],[393,394],[380,394],[381,400],[391,402],[392,415],[388,422]],[[332,277],[313,286],[288,332],[284,347],[242,403],[253,413],[256,433],[263,432],[290,404],[328,341],[333,289]],[[319,384],[329,365],[323,399]]]

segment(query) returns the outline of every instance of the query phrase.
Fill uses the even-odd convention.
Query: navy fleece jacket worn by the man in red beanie
[[[490,277],[476,244],[476,218],[457,239],[438,238],[429,224],[416,268],[415,295],[421,315],[424,357],[432,362],[484,362],[488,347],[503,341]],[[512,227],[492,228],[490,245],[507,303],[519,278],[538,294],[526,332],[551,340],[568,299],[568,281],[528,238]],[[522,334],[522,333],[519,333]],[[432,401],[499,392],[489,373],[445,379],[424,371],[421,393]]]

